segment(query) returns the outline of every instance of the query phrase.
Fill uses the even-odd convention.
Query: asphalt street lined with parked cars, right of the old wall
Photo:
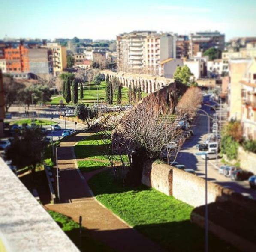
[[[208,113],[212,113],[210,109],[203,106]],[[192,126],[194,131],[194,136],[187,139],[178,153],[176,161],[180,164],[184,164],[186,168],[191,168],[196,171],[196,175],[205,178],[205,160],[202,156],[196,156],[195,153],[199,152],[196,149],[196,144],[203,142],[208,134],[208,118],[202,116],[201,113],[198,114],[195,125]],[[222,165],[220,159],[218,159],[218,166]],[[251,196],[256,199],[256,190],[250,189],[248,181],[232,181],[230,178],[219,174],[216,166],[216,158],[213,160],[208,160],[208,181],[220,184],[222,186],[230,187],[232,190],[242,193],[244,196]]]

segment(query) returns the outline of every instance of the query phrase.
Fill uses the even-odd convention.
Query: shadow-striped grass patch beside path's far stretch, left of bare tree
[[[106,148],[110,143],[110,140],[106,139],[106,135],[103,133],[95,133],[92,136],[88,136],[78,145],[75,146],[75,156],[78,160],[78,168],[83,172],[91,172],[102,167],[110,166],[108,157],[106,156]],[[105,139],[105,140],[104,140]],[[116,163],[119,162],[119,156],[113,156]],[[127,157],[123,156],[126,160]]]

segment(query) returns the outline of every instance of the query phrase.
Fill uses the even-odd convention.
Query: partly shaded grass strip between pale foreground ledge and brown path
[[[105,244],[93,239],[90,236],[86,228],[82,228],[82,239],[81,248],[79,240],[79,225],[74,222],[71,218],[56,213],[53,211],[48,211],[55,222],[60,226],[60,228],[66,233],[70,240],[77,246],[81,251],[91,251],[91,252],[114,252],[112,249],[107,247]]]

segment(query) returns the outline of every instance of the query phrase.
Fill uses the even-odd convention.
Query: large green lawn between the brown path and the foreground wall
[[[89,181],[96,199],[171,252],[204,251],[204,230],[190,222],[193,207],[145,186],[127,188],[104,171]],[[209,251],[236,251],[209,235]]]

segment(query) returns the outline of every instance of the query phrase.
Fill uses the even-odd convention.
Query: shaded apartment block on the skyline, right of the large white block
[[[197,32],[189,35],[189,56],[192,57],[198,52],[214,47],[224,50],[225,35],[218,31],[215,32]]]

